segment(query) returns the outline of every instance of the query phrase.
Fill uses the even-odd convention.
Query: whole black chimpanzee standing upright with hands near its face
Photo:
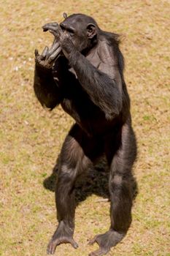
[[[110,168],[109,230],[90,241],[107,254],[131,225],[132,165],[136,139],[131,127],[130,99],[123,78],[124,61],[119,36],[102,31],[83,14],[63,15],[63,22],[47,23],[44,31],[55,37],[42,55],[35,50],[34,91],[43,107],[61,104],[75,120],[63,143],[55,190],[58,227],[47,246],[54,254],[58,244],[74,241],[74,184],[101,155]]]

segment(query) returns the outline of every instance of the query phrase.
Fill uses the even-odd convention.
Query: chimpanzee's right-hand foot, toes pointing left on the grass
[[[91,252],[89,256],[106,255],[107,252],[109,252],[110,248],[119,243],[124,236],[125,233],[118,233],[115,230],[109,230],[107,233],[95,236],[89,242],[89,244],[91,245],[96,242],[99,246],[99,249],[96,250],[95,252]]]

